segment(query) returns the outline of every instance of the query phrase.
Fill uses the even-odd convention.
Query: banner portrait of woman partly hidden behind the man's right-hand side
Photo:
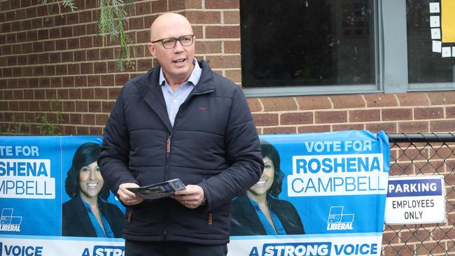
[[[284,173],[276,148],[260,141],[264,171],[258,183],[232,199],[231,236],[304,234],[300,216],[286,200],[278,199]]]

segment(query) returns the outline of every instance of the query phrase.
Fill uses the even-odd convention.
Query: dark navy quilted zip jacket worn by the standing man
[[[158,85],[160,66],[123,87],[107,121],[99,166],[113,192],[122,183],[180,178],[200,185],[207,198],[193,210],[170,198],[127,207],[127,240],[228,243],[230,201],[260,178],[259,138],[243,93],[199,63],[202,76],[174,127]]]

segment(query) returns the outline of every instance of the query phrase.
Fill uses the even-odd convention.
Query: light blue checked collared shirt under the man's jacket
[[[160,69],[160,85],[162,94],[165,97],[166,107],[167,107],[167,115],[169,116],[169,120],[171,121],[172,127],[174,127],[174,120],[176,119],[177,111],[179,111],[180,105],[183,101],[188,98],[190,92],[199,82],[201,78],[202,69],[197,63],[196,59],[193,59],[193,64],[195,64],[195,69],[191,72],[190,78],[181,84],[177,90],[174,92],[172,87],[167,83],[165,79],[165,74],[162,73],[162,69]]]

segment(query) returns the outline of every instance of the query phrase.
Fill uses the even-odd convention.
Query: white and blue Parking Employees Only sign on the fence
[[[384,222],[445,223],[444,177],[389,177]]]

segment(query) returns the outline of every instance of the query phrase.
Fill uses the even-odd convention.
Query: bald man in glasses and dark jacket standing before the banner
[[[125,255],[226,255],[230,202],[262,173],[258,134],[237,85],[197,62],[190,22],[151,25],[158,60],[121,90],[104,129],[102,175],[126,207]],[[146,200],[127,187],[180,178],[186,190]]]

